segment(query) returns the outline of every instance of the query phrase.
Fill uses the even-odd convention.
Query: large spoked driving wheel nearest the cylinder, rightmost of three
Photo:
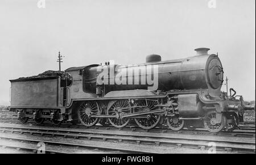
[[[134,108],[134,112],[147,112],[154,111],[158,109],[155,105],[158,104],[157,100],[139,100],[137,106]],[[143,129],[152,129],[158,125],[161,116],[158,114],[150,113],[148,115],[143,115],[141,118],[135,118],[137,125]]]

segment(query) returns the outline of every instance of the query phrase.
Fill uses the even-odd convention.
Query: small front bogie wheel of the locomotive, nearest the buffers
[[[221,115],[221,121],[218,123],[216,116],[217,113],[214,111],[209,111],[206,115],[205,115],[205,119],[204,119],[204,126],[207,130],[209,130],[209,132],[212,133],[217,133],[217,132],[221,132],[221,130],[223,130],[226,126],[226,116],[223,115],[223,113],[220,113]]]

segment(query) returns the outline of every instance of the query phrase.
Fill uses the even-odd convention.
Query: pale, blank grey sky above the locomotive
[[[255,100],[255,0],[44,1],[0,0],[0,104],[9,104],[9,79],[58,70],[59,51],[65,70],[148,54],[174,60],[201,47],[218,52],[229,87]]]

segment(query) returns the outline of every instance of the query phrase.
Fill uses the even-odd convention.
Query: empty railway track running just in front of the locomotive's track
[[[13,126],[1,126],[2,133],[18,133],[30,134],[34,136],[51,136],[87,139],[95,141],[109,141],[118,143],[133,143],[137,145],[155,145],[155,146],[173,146],[188,147],[192,149],[209,149],[208,143],[216,143],[217,151],[229,151],[236,153],[255,153],[255,142],[244,141],[228,141],[209,138],[184,138],[172,136],[152,136],[141,134],[125,134],[110,132],[93,132],[89,130],[64,130],[64,129],[48,129],[48,128],[24,128]],[[98,147],[96,146],[98,149]],[[122,150],[121,150],[122,151]],[[131,153],[139,153],[139,151],[131,151]],[[148,152],[149,153],[149,152]]]

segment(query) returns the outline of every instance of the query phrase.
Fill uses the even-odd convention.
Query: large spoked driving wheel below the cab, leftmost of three
[[[100,115],[100,107],[96,101],[85,101],[79,107],[78,117],[82,125],[93,126],[97,124],[97,117],[90,117],[91,115]]]

